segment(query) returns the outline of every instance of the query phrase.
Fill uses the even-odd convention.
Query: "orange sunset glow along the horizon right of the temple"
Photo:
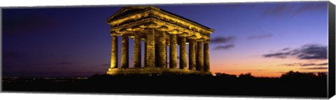
[[[307,60],[296,60],[296,59],[278,59],[278,58],[250,58],[241,60],[211,60],[211,72],[215,74],[216,72],[225,74],[246,74],[251,72],[253,76],[264,76],[264,77],[279,77],[289,71],[294,72],[328,72],[328,69],[306,69],[314,67],[328,67],[326,66],[285,66],[283,64],[291,63],[328,63],[328,60],[312,60],[307,62]]]

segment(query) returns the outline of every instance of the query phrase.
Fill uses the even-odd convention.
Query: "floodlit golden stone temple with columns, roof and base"
[[[214,29],[154,6],[124,7],[106,22],[111,25],[112,36],[111,67],[107,74],[211,74],[209,42]],[[118,38],[122,40],[121,53]],[[130,38],[134,40],[132,67]],[[145,48],[144,66],[141,41]]]

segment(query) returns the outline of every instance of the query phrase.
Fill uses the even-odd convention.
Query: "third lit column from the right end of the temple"
[[[189,69],[196,69],[196,42],[189,40]]]

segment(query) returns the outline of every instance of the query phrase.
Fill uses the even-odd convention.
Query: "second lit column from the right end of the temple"
[[[204,70],[204,59],[203,59],[203,46],[202,42],[197,42],[197,67],[198,71]]]

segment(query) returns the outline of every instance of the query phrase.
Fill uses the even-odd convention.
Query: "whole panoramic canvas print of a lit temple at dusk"
[[[2,91],[327,98],[330,6],[2,8]]]

